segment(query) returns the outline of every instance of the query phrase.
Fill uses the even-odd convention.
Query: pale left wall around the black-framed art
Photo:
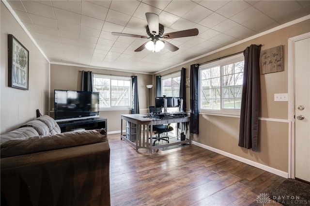
[[[6,6],[0,3],[0,134],[36,118],[36,109],[47,114],[49,62],[32,43]],[[8,87],[8,34],[29,50],[29,90]]]

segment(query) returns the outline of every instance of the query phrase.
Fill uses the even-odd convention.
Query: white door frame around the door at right
[[[288,120],[289,162],[288,178],[295,178],[295,42],[310,37],[310,32],[288,39]]]

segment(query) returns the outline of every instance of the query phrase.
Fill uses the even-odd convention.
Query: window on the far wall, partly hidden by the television
[[[93,75],[94,91],[99,92],[100,109],[131,108],[131,78]]]

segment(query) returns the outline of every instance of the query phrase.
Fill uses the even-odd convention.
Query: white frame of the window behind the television
[[[130,76],[115,76],[115,75],[106,75],[106,74],[93,74],[93,78],[105,78],[105,79],[109,79],[110,80],[110,87],[111,87],[111,80],[123,80],[123,81],[129,81],[129,89],[128,89],[128,93],[127,95],[129,96],[129,105],[125,105],[125,106],[111,106],[111,102],[110,102],[110,106],[109,107],[100,107],[100,111],[107,111],[107,110],[120,110],[120,109],[131,109],[132,107],[132,78]],[[94,81],[94,79],[93,79]],[[97,91],[95,89],[95,81],[94,81],[94,91]],[[111,96],[112,96],[112,91],[110,89],[110,99],[109,101],[111,101]],[[99,98],[100,98],[100,94],[99,94]]]

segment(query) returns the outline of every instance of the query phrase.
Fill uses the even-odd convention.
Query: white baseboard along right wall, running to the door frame
[[[273,174],[278,175],[278,176],[280,176],[280,177],[288,178],[288,173],[287,173],[287,172],[283,172],[283,171],[278,170],[278,169],[275,169],[275,168],[273,168],[273,167],[269,167],[269,166],[266,166],[266,165],[264,165],[264,164],[261,164],[261,163],[258,163],[258,162],[254,162],[254,161],[248,160],[248,159],[246,159],[246,158],[239,157],[239,156],[237,156],[237,155],[234,155],[234,154],[231,154],[231,153],[222,151],[222,150],[217,149],[217,148],[214,148],[214,147],[210,147],[210,146],[203,145],[203,144],[201,144],[201,143],[199,143],[199,142],[192,141],[192,144],[193,144],[193,145],[196,145],[196,146],[198,146],[198,147],[202,147],[202,148],[208,149],[208,150],[210,150],[210,151],[216,152],[216,153],[218,153],[218,154],[224,155],[224,156],[226,156],[226,157],[232,158],[232,159],[237,160],[237,161],[239,161],[239,162],[246,163],[246,164],[251,165],[251,166],[253,166],[253,167],[257,167],[257,168],[259,168],[259,169],[262,169],[262,170],[264,170],[264,171],[273,173]]]

